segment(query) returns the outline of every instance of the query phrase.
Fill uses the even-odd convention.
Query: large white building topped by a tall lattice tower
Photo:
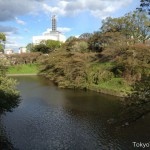
[[[56,18],[55,16],[53,16],[52,17],[52,30],[48,29],[41,36],[33,36],[32,40],[33,40],[33,44],[37,45],[37,44],[40,44],[40,42],[43,40],[55,40],[55,41],[65,42],[66,37],[56,30]]]

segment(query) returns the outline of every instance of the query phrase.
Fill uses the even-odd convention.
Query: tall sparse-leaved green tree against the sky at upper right
[[[134,11],[120,18],[106,18],[102,22],[103,33],[119,32],[128,44],[143,42],[149,38],[149,18],[145,13]]]

